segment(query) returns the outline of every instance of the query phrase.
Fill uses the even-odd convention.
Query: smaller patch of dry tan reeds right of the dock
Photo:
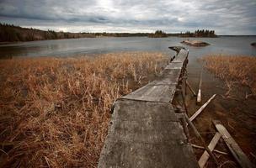
[[[256,57],[243,55],[206,55],[205,67],[225,80],[227,87],[233,83],[247,86],[256,95]],[[230,90],[230,88],[229,88]]]

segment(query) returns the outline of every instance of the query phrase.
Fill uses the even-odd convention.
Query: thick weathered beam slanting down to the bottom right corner
[[[239,147],[235,139],[232,138],[231,134],[228,133],[221,121],[213,120],[212,122],[215,124],[216,129],[221,134],[222,139],[224,139],[228,149],[231,151],[239,165],[241,165],[243,168],[253,167],[253,164],[250,162],[250,160],[248,160],[247,155],[243,153],[243,150]]]

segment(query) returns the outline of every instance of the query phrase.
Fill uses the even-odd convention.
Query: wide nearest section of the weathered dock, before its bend
[[[120,100],[111,123],[99,167],[198,167],[169,103]]]

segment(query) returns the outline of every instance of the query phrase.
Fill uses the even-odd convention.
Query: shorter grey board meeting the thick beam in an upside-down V
[[[209,150],[214,150],[214,148],[216,147],[216,144],[218,143],[219,139],[221,138],[221,134],[220,133],[216,133],[213,137],[213,139],[211,139],[211,143],[208,145]],[[201,155],[200,160],[198,161],[198,164],[201,168],[205,167],[205,163],[207,162],[207,160],[209,159],[210,155],[208,154],[208,152],[205,150],[204,154]]]

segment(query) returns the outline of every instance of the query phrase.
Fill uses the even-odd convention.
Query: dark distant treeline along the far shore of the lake
[[[35,41],[45,39],[75,39],[75,38],[96,38],[96,37],[132,37],[146,36],[152,38],[163,38],[169,36],[179,37],[216,37],[214,30],[196,30],[195,33],[180,33],[167,34],[162,30],[157,30],[155,33],[70,33],[56,32],[53,30],[40,30],[32,28],[22,28],[13,24],[0,23],[0,42],[15,42],[15,41]]]

